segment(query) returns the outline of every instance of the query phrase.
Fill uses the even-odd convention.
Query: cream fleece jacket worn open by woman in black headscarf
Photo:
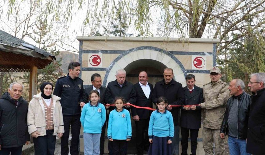
[[[51,99],[53,103],[53,125],[54,132],[52,135],[56,136],[57,133],[64,133],[63,127],[63,113],[60,103],[60,97],[51,94]],[[39,136],[46,135],[46,119],[43,99],[41,93],[34,95],[30,101],[28,115],[27,115],[28,131],[29,134],[38,131]]]

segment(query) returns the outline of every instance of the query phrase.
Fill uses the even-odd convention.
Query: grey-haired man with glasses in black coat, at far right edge
[[[265,154],[265,73],[251,74],[248,87],[253,95],[248,119],[247,153]]]

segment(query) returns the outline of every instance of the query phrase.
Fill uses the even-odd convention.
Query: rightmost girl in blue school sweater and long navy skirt
[[[149,121],[148,135],[151,145],[148,154],[171,155],[174,124],[172,114],[165,109],[167,105],[165,97],[158,97],[157,110],[152,112]]]

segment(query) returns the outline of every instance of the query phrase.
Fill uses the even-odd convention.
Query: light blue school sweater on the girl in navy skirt
[[[148,136],[152,137],[168,137],[172,141],[174,136],[174,124],[172,114],[165,110],[164,113],[160,113],[157,110],[153,111],[149,121]]]

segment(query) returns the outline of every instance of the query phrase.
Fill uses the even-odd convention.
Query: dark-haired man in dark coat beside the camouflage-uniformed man
[[[193,105],[190,107],[181,107],[180,129],[181,129],[181,155],[188,155],[188,139],[190,132],[191,155],[196,155],[197,137],[201,128],[201,107],[198,104],[203,103],[202,88],[195,85],[195,76],[188,74],[186,77],[187,86],[183,88],[185,95],[184,105]],[[196,106],[197,105],[197,106]]]

